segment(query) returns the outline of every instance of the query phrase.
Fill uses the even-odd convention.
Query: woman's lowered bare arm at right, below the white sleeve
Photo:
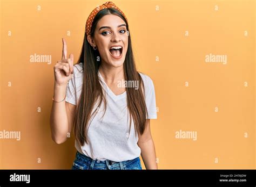
[[[150,119],[147,119],[145,132],[139,135],[138,146],[142,150],[142,159],[146,169],[158,169],[156,162],[156,150],[150,131]]]

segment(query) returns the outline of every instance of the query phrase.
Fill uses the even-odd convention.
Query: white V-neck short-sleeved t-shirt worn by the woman
[[[73,75],[66,89],[66,102],[77,105],[82,91],[83,84],[83,63],[74,65]],[[104,113],[104,102],[99,107],[96,116],[89,120],[88,140],[89,143],[80,146],[75,141],[78,152],[104,161],[106,159],[121,162],[132,160],[140,156],[140,148],[137,145],[138,135],[134,131],[133,120],[130,129],[130,114],[127,111],[126,91],[115,95],[104,82],[102,75],[98,72],[99,78],[103,81],[103,90],[106,92],[106,112]],[[145,102],[149,119],[157,119],[156,96],[151,78],[140,73],[145,86]],[[97,103],[98,104],[98,103]],[[93,107],[93,111],[97,105]],[[103,117],[102,117],[103,116]]]

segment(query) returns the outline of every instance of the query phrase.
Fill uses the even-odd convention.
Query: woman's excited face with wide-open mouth
[[[125,21],[116,15],[103,16],[96,25],[95,35],[90,43],[97,46],[103,63],[113,67],[122,66],[128,48]]]

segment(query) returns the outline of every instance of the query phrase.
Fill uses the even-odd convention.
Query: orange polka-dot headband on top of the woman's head
[[[90,13],[87,21],[86,21],[86,34],[90,35],[91,33],[91,26],[92,26],[92,22],[93,19],[95,18],[95,16],[97,15],[97,13],[102,10],[102,9],[107,9],[107,8],[114,8],[117,9],[120,13],[122,13],[122,15],[124,16],[124,18],[127,21],[127,18],[125,17],[124,13],[111,1],[103,3],[100,6],[97,6],[97,8],[93,9],[93,11]]]

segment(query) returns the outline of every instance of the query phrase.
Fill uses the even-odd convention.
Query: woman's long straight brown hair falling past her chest
[[[93,37],[95,33],[95,28],[100,20],[105,15],[116,15],[125,21],[127,31],[129,31],[129,25],[123,15],[116,9],[108,8],[99,11],[93,20],[91,27],[91,36]],[[127,96],[127,109],[130,114],[130,131],[131,131],[131,120],[134,123],[134,130],[136,133],[140,132],[143,134],[146,126],[147,118],[147,108],[145,103],[145,87],[142,81],[142,77],[136,70],[136,65],[134,63],[134,57],[131,45],[131,36],[129,31],[129,41],[127,53],[125,56],[125,61],[123,64],[124,75],[126,81],[138,81],[139,89],[126,87]],[[82,52],[78,63],[83,63],[83,85],[82,91],[79,98],[79,102],[75,109],[74,114],[74,129],[75,138],[79,141],[80,145],[84,146],[84,142],[87,142],[87,126],[89,125],[90,119],[97,113],[97,110],[93,110],[93,106],[98,103],[98,107],[104,102],[104,107],[106,111],[106,98],[98,77],[98,70],[100,66],[100,57],[98,50],[93,50],[92,46],[87,41],[87,35],[85,33],[84,43],[82,47]],[[105,113],[104,113],[105,114]],[[132,119],[131,119],[132,117]],[[129,133],[130,134],[130,133]]]

